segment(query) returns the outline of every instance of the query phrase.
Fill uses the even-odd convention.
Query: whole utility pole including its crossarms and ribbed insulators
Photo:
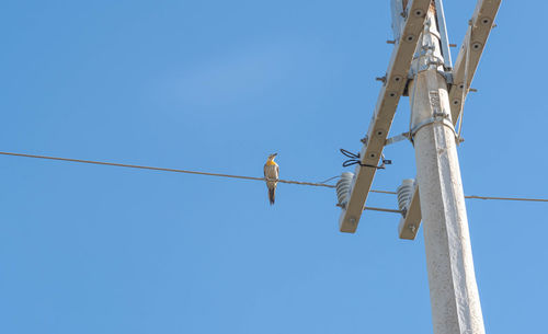
[[[434,334],[484,334],[473,272],[468,219],[455,130],[457,118],[501,0],[478,0],[455,67],[449,54],[442,0],[391,0],[395,45],[379,97],[358,154],[336,184],[339,229],[354,233],[377,170],[385,168],[383,149],[410,139],[415,149],[416,183],[398,188],[402,214],[400,239],[414,240],[424,221]],[[414,55],[414,56],[413,56]],[[400,96],[408,94],[408,133],[387,138]],[[461,123],[460,117],[460,123]],[[350,162],[350,163],[349,163]],[[379,162],[383,162],[379,165]],[[343,164],[343,166],[345,165]]]

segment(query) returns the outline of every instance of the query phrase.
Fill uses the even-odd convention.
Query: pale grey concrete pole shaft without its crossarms
[[[431,5],[409,85],[411,136],[424,223],[435,334],[482,334],[465,196],[435,8]]]

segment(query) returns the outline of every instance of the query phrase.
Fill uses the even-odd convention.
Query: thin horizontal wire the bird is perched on
[[[176,170],[176,169],[164,169],[164,168],[156,168],[148,165],[137,165],[137,164],[127,164],[127,163],[115,163],[115,162],[105,162],[105,161],[94,161],[94,160],[81,160],[81,159],[70,159],[70,158],[59,158],[59,157],[49,157],[49,156],[36,156],[36,154],[25,154],[25,153],[13,153],[13,152],[1,152],[2,156],[11,156],[11,157],[23,157],[23,158],[35,158],[35,159],[47,159],[47,160],[57,160],[57,161],[67,161],[67,162],[79,162],[79,163],[89,163],[89,164],[101,164],[101,165],[113,165],[113,166],[122,166],[122,168],[130,168],[130,169],[140,169],[140,170],[152,170],[152,171],[161,171],[161,172],[173,172],[173,173],[186,173],[186,174],[198,174],[198,175],[208,175],[208,176],[219,176],[219,177],[231,177],[231,178],[243,178],[243,180],[253,180],[253,181],[265,181],[264,177],[253,177],[253,176],[242,176],[242,175],[230,175],[230,174],[219,174],[219,173],[207,173],[207,172],[198,172],[198,171],[189,171],[189,170]],[[313,183],[313,182],[301,182],[301,181],[293,181],[293,180],[278,180],[279,183],[288,183],[288,184],[298,184],[298,185],[309,185],[309,186],[320,186],[334,188],[334,185],[324,184],[324,183]],[[388,192],[388,191],[376,191],[370,189],[370,193],[378,194],[389,194],[397,195],[397,192]],[[547,198],[526,198],[526,197],[492,197],[492,196],[465,196],[465,198],[472,199],[494,199],[494,200],[522,200],[522,201],[548,201]]]

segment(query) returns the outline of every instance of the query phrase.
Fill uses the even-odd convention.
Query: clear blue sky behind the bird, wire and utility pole
[[[460,45],[476,1],[446,1]],[[310,182],[358,151],[389,1],[0,5],[0,150]],[[467,100],[467,195],[548,197],[546,1],[503,1]],[[457,49],[454,49],[454,57]],[[392,135],[407,130],[400,102]],[[374,187],[413,177],[412,146]],[[330,188],[0,157],[1,333],[432,333],[422,230],[338,230]],[[367,205],[396,208],[391,195]],[[467,200],[488,333],[541,333],[548,205]]]

